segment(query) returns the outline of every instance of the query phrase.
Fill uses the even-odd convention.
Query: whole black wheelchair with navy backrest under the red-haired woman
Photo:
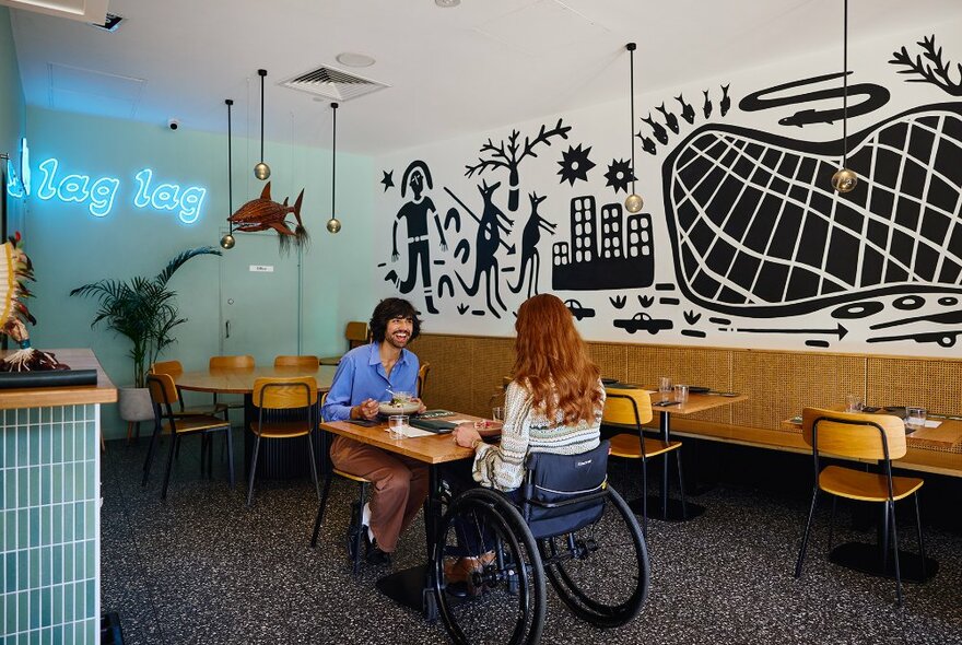
[[[634,513],[608,485],[608,452],[603,441],[580,455],[536,453],[513,495],[477,488],[450,502],[430,566],[438,613],[455,643],[538,643],[545,577],[595,626],[637,615],[648,593],[648,551]],[[466,585],[455,578],[465,577],[465,570],[456,572],[467,556],[476,564]]]

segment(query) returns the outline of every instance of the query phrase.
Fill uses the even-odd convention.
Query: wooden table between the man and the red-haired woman
[[[450,417],[439,420],[478,421],[480,418],[453,412]],[[434,595],[434,575],[431,568],[431,558],[434,553],[437,523],[441,517],[438,466],[449,461],[471,459],[474,456],[474,452],[470,448],[458,446],[450,433],[392,439],[387,431],[387,422],[383,420],[373,426],[360,425],[351,421],[328,421],[322,422],[320,427],[355,442],[376,446],[388,453],[404,455],[427,465],[429,494],[424,501],[426,561],[422,565],[390,573],[379,578],[375,586],[384,595],[400,605],[420,612],[427,620],[435,620],[437,618],[437,600]]]

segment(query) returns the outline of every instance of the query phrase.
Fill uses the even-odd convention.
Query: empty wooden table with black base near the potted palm
[[[174,384],[181,390],[211,392],[215,395],[244,396],[244,464],[250,464],[254,450],[254,433],[250,423],[256,419],[254,407],[254,382],[258,378],[291,378],[313,376],[317,391],[330,390],[337,372],[336,365],[319,365],[316,370],[297,366],[257,366],[237,368],[208,368],[172,374]],[[319,415],[318,415],[319,417]],[[298,442],[263,442],[257,459],[257,477],[263,479],[291,479],[308,472],[309,464]],[[320,444],[320,442],[318,442]],[[315,445],[315,459],[324,467],[327,462],[324,446]]]

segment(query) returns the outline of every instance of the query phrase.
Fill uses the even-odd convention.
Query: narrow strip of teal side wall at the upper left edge
[[[16,50],[10,31],[10,10],[0,7],[0,152],[10,154],[14,162],[20,160],[20,155],[14,153],[20,149],[23,136],[24,112],[20,69],[16,67]],[[5,190],[5,187],[0,187],[0,190]],[[8,198],[7,208],[9,230],[12,232],[22,222],[23,200]]]

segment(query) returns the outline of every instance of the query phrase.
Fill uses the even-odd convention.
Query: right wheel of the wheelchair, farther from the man
[[[615,628],[633,619],[649,584],[648,549],[634,513],[614,489],[595,524],[538,540],[544,573],[583,620]]]

